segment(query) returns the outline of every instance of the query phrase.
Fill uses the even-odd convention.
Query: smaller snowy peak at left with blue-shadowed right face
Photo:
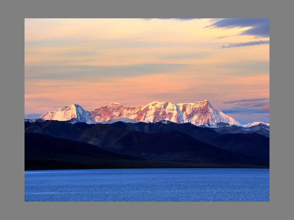
[[[46,120],[68,121],[76,118],[80,121],[92,121],[89,111],[85,111],[78,104],[65,106],[64,108],[57,109],[56,111],[47,111],[43,115]]]

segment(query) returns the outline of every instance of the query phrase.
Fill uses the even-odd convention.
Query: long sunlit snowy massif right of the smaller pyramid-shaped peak
[[[119,103],[110,103],[89,112],[93,121],[108,121],[126,117],[146,123],[166,120],[176,123],[190,122],[194,125],[204,126],[216,126],[219,122],[241,126],[232,117],[220,110],[213,109],[208,100],[182,104],[154,101],[146,106],[138,107],[126,107]]]

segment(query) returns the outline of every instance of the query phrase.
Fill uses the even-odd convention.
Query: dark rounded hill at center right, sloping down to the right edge
[[[178,131],[152,134],[132,131],[115,142],[105,141],[100,146],[116,153],[148,160],[268,165],[265,158],[222,150]]]

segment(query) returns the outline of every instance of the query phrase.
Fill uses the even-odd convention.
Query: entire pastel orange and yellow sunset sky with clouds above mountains
[[[209,100],[269,123],[269,19],[25,19],[25,118]]]

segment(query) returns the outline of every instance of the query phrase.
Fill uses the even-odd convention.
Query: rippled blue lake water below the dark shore
[[[25,201],[269,201],[269,169],[24,172]]]

